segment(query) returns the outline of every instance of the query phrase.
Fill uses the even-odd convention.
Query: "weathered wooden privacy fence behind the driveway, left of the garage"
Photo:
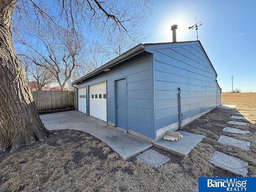
[[[38,111],[73,108],[75,95],[73,91],[32,91]]]

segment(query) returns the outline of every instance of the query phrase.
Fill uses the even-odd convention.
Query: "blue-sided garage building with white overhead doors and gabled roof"
[[[150,142],[221,99],[217,73],[200,41],[138,44],[72,84],[87,87],[87,114]]]

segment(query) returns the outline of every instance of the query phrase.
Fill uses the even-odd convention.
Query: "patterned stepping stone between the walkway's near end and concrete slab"
[[[145,152],[136,156],[136,158],[154,168],[157,168],[170,160],[170,158],[168,158],[152,149],[146,150]]]

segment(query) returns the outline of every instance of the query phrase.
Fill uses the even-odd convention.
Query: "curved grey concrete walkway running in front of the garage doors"
[[[152,146],[150,142],[136,138],[78,111],[43,114],[40,118],[48,130],[73,129],[89,133],[105,142],[124,160]]]

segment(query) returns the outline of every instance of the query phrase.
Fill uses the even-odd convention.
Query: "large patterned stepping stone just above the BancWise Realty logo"
[[[218,151],[214,152],[210,158],[210,163],[219,168],[229,170],[235,174],[242,176],[246,176],[248,174],[248,162]]]

